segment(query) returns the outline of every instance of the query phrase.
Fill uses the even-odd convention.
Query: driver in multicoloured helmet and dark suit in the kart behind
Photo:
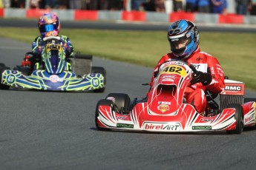
[[[44,13],[38,22],[39,32],[41,35],[35,38],[32,44],[32,53],[27,52],[23,61],[22,67],[30,67],[31,72],[33,69],[39,69],[43,65],[42,62],[42,46],[44,45],[43,38],[49,36],[59,36],[63,41],[66,56],[73,55],[73,46],[70,39],[65,35],[59,35],[60,21],[56,13]],[[66,69],[70,70],[70,61],[67,59]]]

